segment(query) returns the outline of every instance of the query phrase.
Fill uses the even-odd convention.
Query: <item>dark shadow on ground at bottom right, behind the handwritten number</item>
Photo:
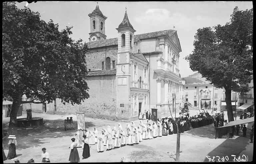
[[[238,158],[239,154],[245,150],[246,145],[249,144],[248,140],[248,138],[241,136],[235,139],[226,139],[218,147],[208,153],[208,158],[206,157],[204,162],[218,162],[218,160],[222,162],[222,159],[225,162],[233,162],[234,157],[231,155],[235,155]],[[223,157],[220,154],[225,154],[225,156]],[[215,157],[214,161],[212,161],[213,157]],[[211,161],[209,158],[211,158]]]

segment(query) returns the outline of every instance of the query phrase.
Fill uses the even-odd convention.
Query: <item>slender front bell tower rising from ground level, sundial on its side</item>
[[[134,49],[134,32],[136,32],[127,16],[116,29],[118,32],[118,51],[116,64],[116,110],[117,117],[130,118],[131,110],[130,87],[132,80],[132,69],[130,67],[131,58]]]

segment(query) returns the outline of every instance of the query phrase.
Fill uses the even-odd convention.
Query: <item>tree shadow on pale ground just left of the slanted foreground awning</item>
[[[190,130],[187,130],[186,132],[188,134],[197,135],[200,137],[207,137],[207,138],[211,138],[211,139],[215,138],[215,129],[214,129],[213,124],[201,126],[198,128],[190,127]]]

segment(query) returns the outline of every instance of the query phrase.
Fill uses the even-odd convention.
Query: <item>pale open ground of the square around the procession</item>
[[[225,120],[227,120],[227,112]],[[195,111],[190,111],[190,116],[195,115]],[[178,114],[177,114],[178,115]],[[18,118],[24,118],[23,116]],[[71,138],[76,138],[77,130],[64,130],[64,119],[73,117],[76,124],[75,115],[50,115],[33,113],[33,117],[43,117],[44,125],[40,127],[18,128],[16,153],[21,163],[27,163],[33,158],[35,162],[41,162],[42,148],[50,154],[51,162],[69,162]],[[239,118],[238,118],[239,119]],[[146,120],[143,120],[146,122]],[[126,122],[116,122],[112,120],[86,118],[86,126],[89,130],[96,127],[101,131],[107,125],[122,124],[125,128]],[[139,120],[134,121],[136,125]],[[3,145],[4,152],[8,154],[8,135],[7,129],[9,118],[3,118]],[[77,127],[77,126],[76,126]],[[181,133],[180,136],[180,162],[209,162],[214,161],[233,161],[234,159],[253,160],[253,144],[249,143],[249,134],[247,137],[234,136],[228,139],[227,136],[215,139],[214,125],[210,124]],[[78,148],[80,162],[120,162],[124,157],[124,162],[174,162],[176,158],[176,137],[177,134],[156,137],[154,139],[143,140],[133,146],[124,147],[98,153],[95,145],[90,145],[91,156],[82,159],[82,148]],[[235,155],[235,157],[234,157]],[[235,160],[235,161],[237,161]],[[5,160],[4,163],[14,163],[12,160]]]

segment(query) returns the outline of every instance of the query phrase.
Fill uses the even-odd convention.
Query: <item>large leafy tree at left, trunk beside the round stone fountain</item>
[[[58,31],[58,24],[40,20],[38,12],[3,3],[3,100],[13,101],[10,126],[17,125],[22,103],[81,104],[89,98],[82,40],[69,38],[72,27]],[[22,96],[33,98],[22,101]],[[40,102],[34,102],[34,100]]]

